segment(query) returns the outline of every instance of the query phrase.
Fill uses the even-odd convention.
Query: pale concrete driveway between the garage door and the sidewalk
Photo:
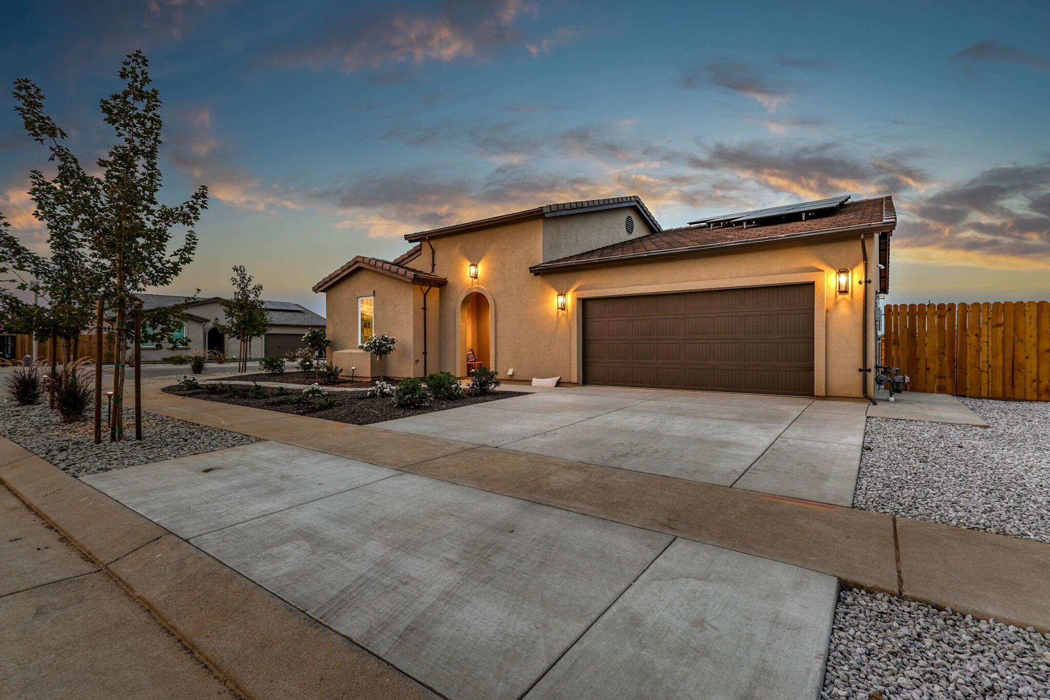
[[[581,386],[373,427],[850,506],[866,408],[795,397]]]

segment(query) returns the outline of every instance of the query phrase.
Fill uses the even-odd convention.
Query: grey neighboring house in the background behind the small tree
[[[171,355],[184,355],[196,348],[209,351],[220,351],[228,358],[237,357],[240,349],[240,342],[236,338],[227,338],[215,323],[226,322],[226,313],[219,303],[222,297],[207,297],[186,300],[184,296],[169,294],[140,294],[143,309],[150,311],[168,306],[177,306],[186,312],[186,324],[182,333],[176,333],[176,338],[187,338],[189,344],[185,347],[172,348],[171,344],[165,341],[159,343],[144,343],[142,346],[143,360],[160,360]],[[302,334],[310,328],[323,328],[324,317],[315,314],[306,306],[300,306],[291,301],[264,301],[267,316],[270,318],[270,327],[266,336],[253,338],[250,355],[253,358],[269,357],[271,355],[282,355],[288,351],[302,347]],[[113,315],[110,313],[107,320],[112,321]]]

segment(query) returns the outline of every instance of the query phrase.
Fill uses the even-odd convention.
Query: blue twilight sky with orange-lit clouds
[[[890,302],[1050,297],[1050,3],[12,3],[0,79],[35,80],[82,163],[142,48],[165,103],[164,198],[211,208],[168,293],[270,299],[401,235],[638,194],[665,227],[891,194]],[[46,151],[0,96],[0,212]]]

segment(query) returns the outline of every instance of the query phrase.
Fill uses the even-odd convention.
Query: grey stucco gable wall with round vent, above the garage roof
[[[634,232],[631,234],[627,233],[628,216],[634,219]],[[650,233],[652,229],[637,207],[546,216],[543,218],[543,261],[556,260]]]

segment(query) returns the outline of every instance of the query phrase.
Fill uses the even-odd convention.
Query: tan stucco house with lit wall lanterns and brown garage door
[[[888,196],[667,230],[636,196],[571,201],[410,234],[314,292],[358,376],[376,372],[358,342],[387,333],[392,377],[465,376],[472,353],[504,381],[859,397],[896,226]]]

